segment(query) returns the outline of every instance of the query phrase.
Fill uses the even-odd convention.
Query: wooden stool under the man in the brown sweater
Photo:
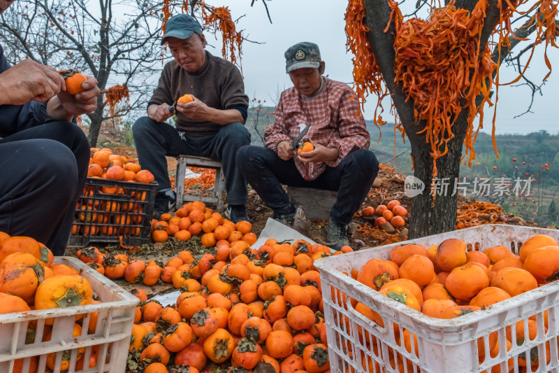
[[[187,167],[201,167],[204,169],[215,169],[215,184],[213,197],[199,197],[194,195],[184,195],[184,176]],[[175,193],[177,195],[177,209],[182,207],[184,202],[201,201],[204,203],[215,204],[215,211],[224,211],[223,195],[225,191],[225,176],[222,170],[222,162],[205,157],[194,157],[193,155],[179,155],[177,157],[177,175],[175,176]]]

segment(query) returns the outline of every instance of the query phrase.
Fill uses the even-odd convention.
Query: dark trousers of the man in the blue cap
[[[175,127],[142,117],[134,123],[132,133],[140,165],[152,172],[158,190],[170,188],[166,156],[196,155],[222,162],[228,204],[248,202],[247,183],[235,162],[238,149],[250,143],[250,134],[242,124],[230,123],[213,136],[186,136],[183,140]]]

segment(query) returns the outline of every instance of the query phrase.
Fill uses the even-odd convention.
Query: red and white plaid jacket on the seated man
[[[325,78],[325,86],[316,97],[307,98],[295,87],[284,90],[275,109],[275,122],[264,133],[266,148],[277,152],[277,144],[291,141],[304,126],[311,124],[303,140],[337,148],[337,160],[332,162],[301,162],[295,164],[305,180],[314,180],[326,169],[336,167],[349,153],[368,149],[370,136],[359,110],[356,94],[349,85]]]

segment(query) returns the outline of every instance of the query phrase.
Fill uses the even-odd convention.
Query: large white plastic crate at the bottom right
[[[444,320],[421,314],[344,274],[361,270],[365,262],[373,258],[389,260],[391,248],[402,244],[422,244],[429,248],[444,239],[457,238],[468,244],[468,250],[484,251],[502,245],[518,253],[523,241],[536,234],[547,234],[559,241],[559,230],[481,225],[317,260],[314,265],[321,275],[331,371],[462,373],[492,372],[493,368],[493,372],[509,372],[509,363],[514,365],[511,372],[559,372],[559,281],[486,309]],[[345,297],[340,293],[345,293]],[[384,328],[356,311],[350,298],[376,311],[382,317]],[[544,311],[549,320],[547,332],[544,332]],[[507,351],[507,326],[521,320],[526,324],[530,316],[535,316],[537,337],[526,339],[520,346],[514,343],[516,338],[513,337],[511,349]],[[514,326],[511,329],[514,333]],[[419,356],[408,352],[403,343],[398,344],[395,336],[402,340],[404,330],[416,335]],[[495,331],[499,354],[491,358],[486,347],[480,364],[478,339],[487,346],[488,336]],[[414,351],[413,339],[411,344],[409,351]],[[518,365],[518,356],[526,358],[527,351],[537,351],[540,357],[538,367],[533,370],[530,366],[524,370]],[[541,358],[546,353],[549,353],[549,362]]]

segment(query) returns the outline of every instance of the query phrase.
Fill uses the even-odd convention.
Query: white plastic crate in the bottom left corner
[[[99,297],[101,303],[61,309],[41,309],[28,312],[0,315],[0,372],[11,373],[14,361],[23,358],[22,372],[29,372],[31,357],[36,356],[39,373],[51,372],[46,367],[48,353],[56,353],[55,370],[79,373],[122,373],[126,371],[126,358],[130,344],[136,305],[139,300],[115,283],[84,265],[76,258],[55,258],[62,263],[78,269]],[[96,330],[89,333],[90,313],[99,312]],[[73,325],[77,314],[83,314],[82,335],[73,337]],[[54,318],[52,337],[42,342],[47,318]],[[27,336],[27,327],[36,323],[35,337]],[[96,367],[89,368],[92,346],[99,345]],[[82,370],[76,369],[78,349],[85,348]],[[83,350],[82,350],[83,351]],[[70,354],[68,370],[61,370],[63,354]]]

